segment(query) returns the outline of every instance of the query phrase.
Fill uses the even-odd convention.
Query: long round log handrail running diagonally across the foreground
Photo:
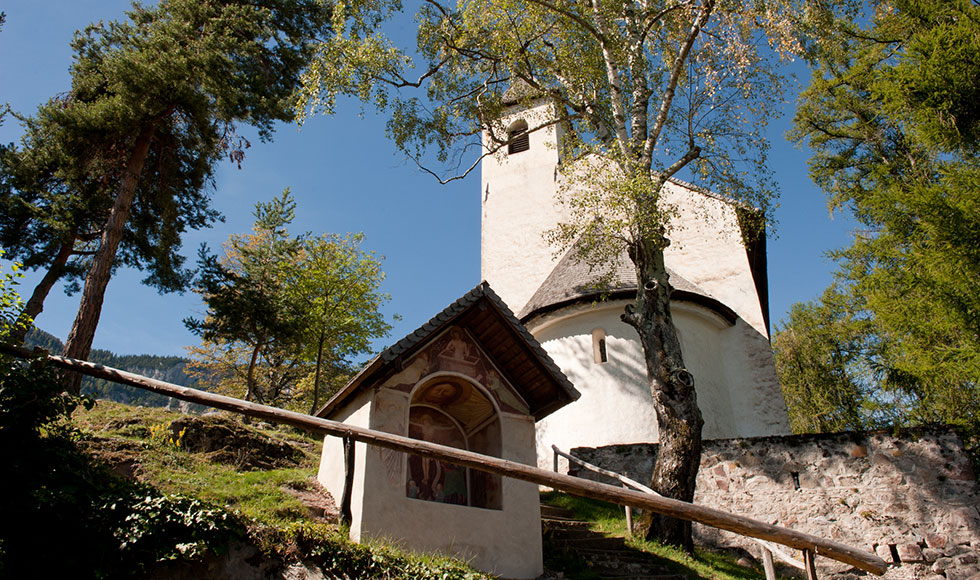
[[[275,407],[258,405],[233,397],[216,395],[206,391],[183,387],[143,377],[127,371],[97,365],[87,361],[71,359],[67,357],[39,354],[29,350],[13,347],[0,343],[0,352],[18,356],[22,358],[45,356],[52,364],[80,372],[82,374],[98,377],[108,381],[130,385],[139,389],[152,391],[161,395],[174,397],[183,401],[190,401],[201,405],[207,405],[216,409],[233,411],[250,417],[257,417],[275,423],[293,425],[307,431],[322,435],[332,435],[342,437],[347,441],[357,441],[368,445],[375,445],[395,451],[403,451],[420,457],[427,457],[439,461],[448,461],[456,465],[470,467],[487,473],[494,473],[504,477],[528,481],[538,485],[548,486],[560,491],[565,491],[573,495],[589,497],[619,505],[628,505],[639,509],[651,510],[657,513],[692,522],[697,522],[706,526],[727,530],[751,538],[767,540],[803,550],[807,560],[807,571],[811,580],[815,580],[816,574],[813,565],[815,555],[831,558],[845,564],[849,564],[861,570],[881,575],[885,572],[885,562],[874,554],[870,554],[851,546],[846,546],[833,540],[827,540],[811,534],[798,532],[788,528],[782,528],[760,522],[750,518],[737,516],[721,510],[716,510],[704,506],[697,506],[687,502],[654,496],[649,493],[622,489],[603,483],[597,483],[586,479],[572,477],[561,473],[552,473],[545,469],[539,469],[523,463],[508,461],[498,457],[481,455],[472,451],[465,451],[429,443],[418,439],[411,439],[401,435],[394,435],[364,427],[347,425],[337,421],[321,419],[303,413],[286,411]],[[43,351],[41,351],[43,353]],[[348,474],[349,476],[350,474]]]

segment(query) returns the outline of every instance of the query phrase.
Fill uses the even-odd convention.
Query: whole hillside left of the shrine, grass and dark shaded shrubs
[[[63,394],[40,361],[0,368],[0,578],[446,580],[451,560],[352,544],[290,428]],[[70,419],[68,417],[71,417]]]

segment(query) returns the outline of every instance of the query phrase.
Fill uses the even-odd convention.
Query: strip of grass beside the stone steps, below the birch
[[[564,493],[548,492],[541,496],[544,503],[571,510],[575,517],[589,522],[590,529],[610,536],[627,538],[626,544],[635,550],[646,552],[661,561],[672,574],[702,580],[764,580],[761,570],[746,568],[735,562],[732,556],[710,550],[695,548],[694,555],[684,550],[651,542],[642,538],[630,537],[626,531],[626,512],[617,505],[593,499],[576,497]],[[559,570],[573,580],[590,580],[598,576],[580,570],[572,559],[570,569]],[[584,565],[584,563],[582,563]]]

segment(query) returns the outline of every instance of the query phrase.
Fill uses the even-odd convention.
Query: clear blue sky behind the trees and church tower
[[[120,19],[128,7],[125,0],[4,2],[0,102],[30,115],[66,91],[74,31],[100,19]],[[792,103],[784,110],[787,117],[771,128],[772,167],[782,194],[768,241],[774,323],[793,303],[815,298],[829,284],[833,264],[824,253],[846,245],[853,228],[840,215],[831,219],[823,193],[807,177],[808,153],[785,141]],[[2,142],[19,135],[12,119],[0,126]],[[202,242],[216,248],[230,234],[247,231],[255,202],[289,187],[298,204],[294,232],[363,232],[363,247],[384,256],[383,290],[392,298],[385,310],[389,317],[400,314],[402,321],[378,347],[411,332],[480,282],[478,174],[439,185],[399,156],[385,138],[383,118],[353,102],[342,103],[332,117],[309,119],[302,128],[281,125],[271,143],[251,142],[241,169],[229,162],[217,172],[213,205],[225,222],[186,236],[187,255]],[[29,295],[39,278],[28,274],[21,294]],[[136,271],[120,271],[112,279],[95,347],[119,354],[183,354],[197,339],[182,320],[201,315],[200,299],[190,292],[160,295],[141,279]],[[78,295],[68,297],[56,287],[37,324],[64,338],[77,307]]]

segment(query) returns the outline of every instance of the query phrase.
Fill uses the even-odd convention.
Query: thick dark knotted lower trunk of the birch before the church
[[[657,413],[660,445],[650,487],[663,496],[690,502],[701,464],[704,420],[670,315],[671,286],[664,264],[668,243],[660,236],[630,246],[639,288],[636,302],[627,307],[622,318],[640,336]],[[640,528],[648,539],[693,550],[690,522],[644,513]]]

